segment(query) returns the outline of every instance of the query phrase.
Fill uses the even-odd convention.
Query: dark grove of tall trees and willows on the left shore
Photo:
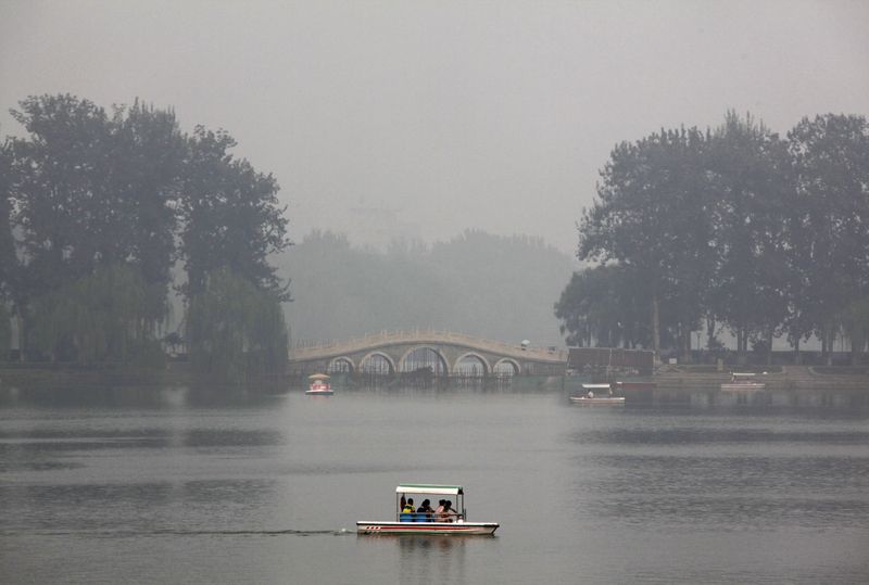
[[[176,287],[174,341],[203,371],[286,358],[288,293],[266,260],[289,245],[278,185],[232,156],[228,133],[187,135],[138,100],[38,96],[11,113],[27,135],[0,144],[2,355],[11,317],[22,359],[159,363]]]

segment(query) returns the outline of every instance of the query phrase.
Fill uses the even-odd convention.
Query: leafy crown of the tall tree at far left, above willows
[[[13,139],[16,220],[25,252],[24,296],[89,275],[98,257],[116,258],[115,238],[102,238],[115,206],[110,176],[109,118],[73,96],[30,97],[13,117],[30,135]]]

